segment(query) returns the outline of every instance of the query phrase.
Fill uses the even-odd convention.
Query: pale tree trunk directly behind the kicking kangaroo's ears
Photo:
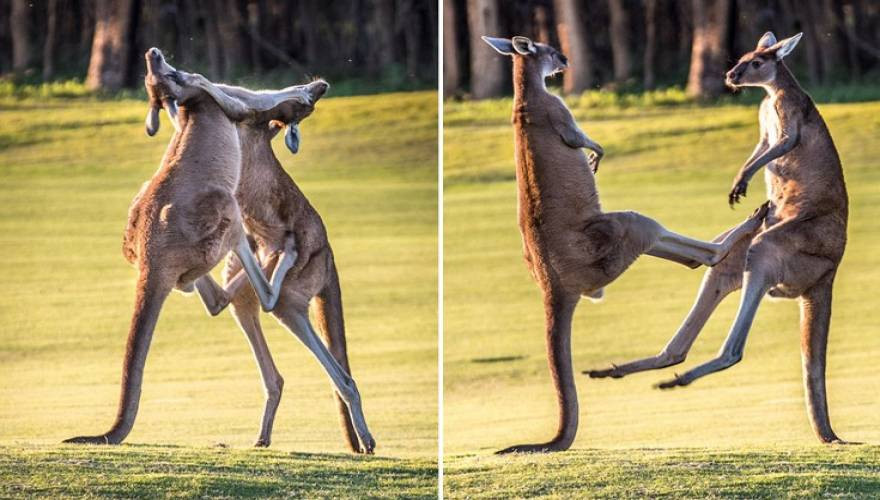
[[[468,0],[468,28],[471,47],[471,94],[474,99],[499,96],[504,92],[505,61],[480,37],[503,36],[496,0]]]

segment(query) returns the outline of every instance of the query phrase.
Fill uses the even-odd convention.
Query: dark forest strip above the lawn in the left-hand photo
[[[138,88],[156,46],[223,81],[436,88],[437,10],[436,0],[0,0],[0,75]]]

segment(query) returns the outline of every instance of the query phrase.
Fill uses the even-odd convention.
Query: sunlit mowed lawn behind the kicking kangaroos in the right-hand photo
[[[757,140],[757,105],[574,104],[582,128],[607,153],[598,174],[606,210],[636,210],[711,239],[765,199],[763,175],[736,210],[726,199]],[[803,402],[798,306],[790,300],[764,301],[743,361],[689,387],[652,386],[716,354],[739,293],[716,311],[683,365],[620,380],[580,375],[657,353],[690,309],[703,271],[644,257],[606,288],[602,303],[582,301],[576,312],[578,451],[494,458],[502,447],[550,438],[556,399],[541,294],[523,263],[516,222],[510,101],[446,104],[444,450],[451,496],[752,496],[864,487],[880,494],[880,314],[872,292],[880,281],[880,102],[819,108],[850,195],[828,351],[831,417],[840,436],[867,444],[830,448],[814,438]],[[644,474],[627,472],[634,467]],[[764,471],[760,478],[756,470]],[[737,477],[743,474],[757,479]],[[866,486],[859,478],[872,479]],[[731,481],[760,487],[722,489]]]

